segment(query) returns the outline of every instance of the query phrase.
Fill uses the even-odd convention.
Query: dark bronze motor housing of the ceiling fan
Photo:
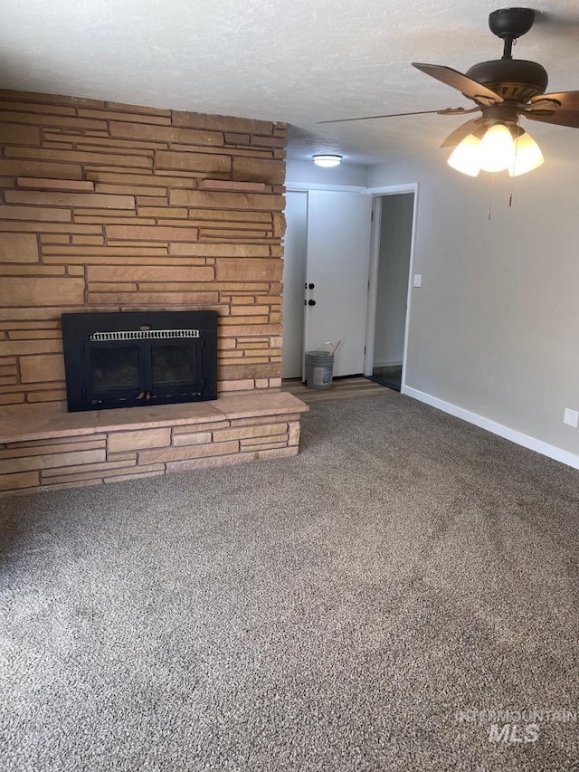
[[[548,83],[545,68],[524,59],[479,62],[465,74],[473,81],[484,83],[504,100],[517,102],[527,102],[537,94],[544,94]]]

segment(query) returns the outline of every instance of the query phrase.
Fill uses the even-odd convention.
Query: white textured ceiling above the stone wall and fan
[[[500,58],[504,0],[3,0],[0,87],[290,124],[289,156],[379,163],[436,147],[460,118],[318,120],[469,107],[410,62]],[[579,90],[576,0],[533,6],[516,58]],[[533,134],[549,129],[533,124]],[[556,129],[572,131],[574,129]]]

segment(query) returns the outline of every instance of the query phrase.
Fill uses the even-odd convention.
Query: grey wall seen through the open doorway
[[[412,193],[380,200],[374,367],[402,365],[414,208]]]

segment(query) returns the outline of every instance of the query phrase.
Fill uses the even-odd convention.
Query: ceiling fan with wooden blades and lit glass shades
[[[480,169],[491,172],[508,169],[511,176],[531,171],[543,163],[543,156],[535,140],[520,127],[521,117],[579,129],[579,91],[546,94],[545,68],[537,62],[512,57],[513,43],[531,29],[534,21],[535,12],[529,8],[502,8],[489,14],[490,31],[504,41],[502,58],[474,64],[464,74],[439,64],[413,62],[417,70],[474,101],[475,107],[470,110],[462,107],[420,110],[319,123],[480,112],[479,118],[463,123],[442,142],[441,148],[455,148],[449,158],[451,167],[470,176],[477,176]]]

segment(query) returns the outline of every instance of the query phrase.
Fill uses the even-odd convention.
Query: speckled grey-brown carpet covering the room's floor
[[[578,512],[579,472],[404,396],[0,500],[0,769],[579,770]]]

